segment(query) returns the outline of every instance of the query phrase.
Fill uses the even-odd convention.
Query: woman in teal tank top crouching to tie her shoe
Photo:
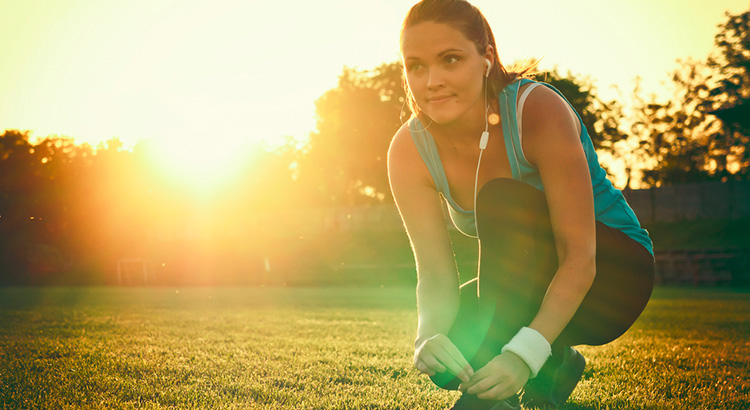
[[[585,360],[640,315],[653,250],[553,87],[510,72],[484,16],[423,0],[401,32],[414,115],[389,149],[393,196],[417,262],[414,364],[463,392],[454,409],[567,400]],[[478,278],[459,286],[442,201],[477,235]]]

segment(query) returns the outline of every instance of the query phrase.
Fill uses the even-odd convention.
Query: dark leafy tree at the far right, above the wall
[[[646,134],[647,185],[702,180],[747,179],[750,150],[747,130],[722,124],[712,112],[750,97],[750,12],[728,15],[715,37],[719,54],[683,61],[672,74],[675,98],[639,99],[633,131]]]

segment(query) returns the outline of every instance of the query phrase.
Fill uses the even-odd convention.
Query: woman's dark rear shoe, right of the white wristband
[[[545,371],[524,386],[521,403],[525,408],[555,407],[565,403],[583,376],[586,359],[576,349],[568,347],[563,361],[556,369]]]

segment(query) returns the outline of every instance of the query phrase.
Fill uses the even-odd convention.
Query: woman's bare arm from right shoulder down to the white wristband
[[[579,125],[567,103],[539,87],[524,108],[527,158],[539,168],[559,267],[531,328],[552,343],[570,322],[596,275],[596,227],[591,176]]]

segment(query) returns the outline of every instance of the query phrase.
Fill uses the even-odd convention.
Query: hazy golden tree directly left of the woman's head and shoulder
[[[401,66],[344,68],[316,101],[317,130],[299,162],[299,182],[320,205],[381,203],[390,197],[386,153],[401,126]]]

